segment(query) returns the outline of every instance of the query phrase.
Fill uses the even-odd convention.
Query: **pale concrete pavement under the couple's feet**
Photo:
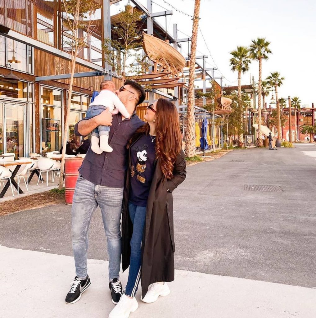
[[[113,308],[108,262],[89,259],[91,287],[67,305],[73,273],[70,256],[0,245],[1,318],[106,318]],[[8,266],[10,260],[10,266]],[[123,285],[127,272],[121,275]],[[131,318],[314,318],[316,289],[176,270],[171,294],[153,304],[140,300]]]

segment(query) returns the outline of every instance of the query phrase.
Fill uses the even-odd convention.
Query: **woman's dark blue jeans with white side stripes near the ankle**
[[[125,294],[134,297],[141,279],[141,241],[143,239],[146,219],[146,207],[137,206],[132,202],[128,202],[128,210],[133,223],[133,235],[131,239],[131,259]]]

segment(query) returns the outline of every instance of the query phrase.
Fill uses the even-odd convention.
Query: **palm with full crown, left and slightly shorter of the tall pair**
[[[241,73],[245,73],[249,70],[249,64],[251,60],[249,58],[249,49],[244,46],[237,46],[236,51],[231,51],[230,54],[232,58],[230,58],[230,66],[232,71],[238,72],[238,107],[243,107],[242,98],[241,98]],[[244,111],[241,112],[241,120],[240,124],[242,125],[244,119]],[[239,134],[239,147],[244,146],[244,136],[243,134]]]

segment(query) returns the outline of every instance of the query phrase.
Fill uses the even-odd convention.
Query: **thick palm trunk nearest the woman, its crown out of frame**
[[[195,0],[192,38],[191,38],[187,129],[186,129],[186,134],[185,134],[185,147],[184,147],[185,155],[187,157],[195,156],[194,72],[195,72],[197,31],[198,31],[198,27],[199,27],[200,3],[201,3],[201,0]],[[214,120],[214,118],[213,118],[213,120]]]

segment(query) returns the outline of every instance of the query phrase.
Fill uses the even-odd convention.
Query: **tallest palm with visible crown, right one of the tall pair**
[[[257,38],[252,40],[250,45],[250,57],[253,60],[259,61],[259,87],[258,87],[258,146],[263,147],[262,131],[261,131],[261,98],[262,98],[262,60],[268,59],[268,54],[272,53],[269,49],[270,42],[265,38]]]

